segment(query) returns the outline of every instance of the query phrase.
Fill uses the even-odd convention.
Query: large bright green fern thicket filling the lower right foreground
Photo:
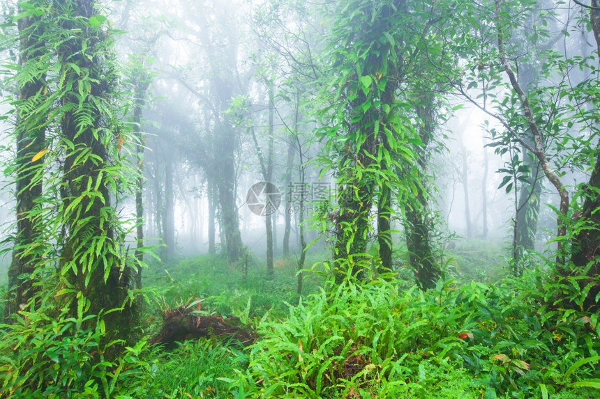
[[[250,398],[594,397],[597,318],[548,313],[530,286],[440,281],[422,292],[345,281],[290,306],[285,321],[264,322],[232,389]]]

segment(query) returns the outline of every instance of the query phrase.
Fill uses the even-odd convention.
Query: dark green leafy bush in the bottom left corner
[[[145,340],[107,361],[103,322],[96,315],[71,318],[68,308],[43,304],[0,324],[0,398],[140,398],[151,391]]]

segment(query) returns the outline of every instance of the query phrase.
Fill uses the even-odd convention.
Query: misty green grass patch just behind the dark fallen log
[[[320,260],[308,258],[305,268]],[[321,258],[322,259],[322,258]],[[287,303],[297,303],[297,263],[295,258],[276,258],[273,279],[267,279],[262,260],[250,258],[248,276],[239,265],[221,257],[202,255],[183,259],[175,265],[151,265],[144,270],[144,286],[155,299],[164,297],[167,306],[204,299],[203,310],[218,315],[234,315],[244,322],[270,315],[283,316]],[[303,295],[315,292],[319,277],[305,273]]]

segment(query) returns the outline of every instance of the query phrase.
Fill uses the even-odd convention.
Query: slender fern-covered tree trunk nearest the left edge
[[[20,11],[22,11],[20,7]],[[20,68],[31,61],[36,62],[44,54],[44,43],[38,38],[41,29],[36,28],[36,17],[22,17],[18,20],[20,36]],[[41,69],[41,68],[40,68]],[[39,70],[39,69],[38,69]],[[17,232],[13,247],[13,260],[8,268],[8,301],[4,308],[6,320],[16,313],[20,306],[27,304],[35,294],[33,274],[40,260],[36,251],[31,251],[33,243],[38,240],[39,222],[36,222],[36,201],[42,195],[42,178],[39,173],[43,159],[31,162],[31,159],[44,148],[45,115],[36,111],[36,104],[43,104],[43,87],[45,75],[37,72],[33,79],[24,83],[18,93],[19,100],[28,107],[17,107],[17,171],[16,171],[16,200],[17,200]]]

